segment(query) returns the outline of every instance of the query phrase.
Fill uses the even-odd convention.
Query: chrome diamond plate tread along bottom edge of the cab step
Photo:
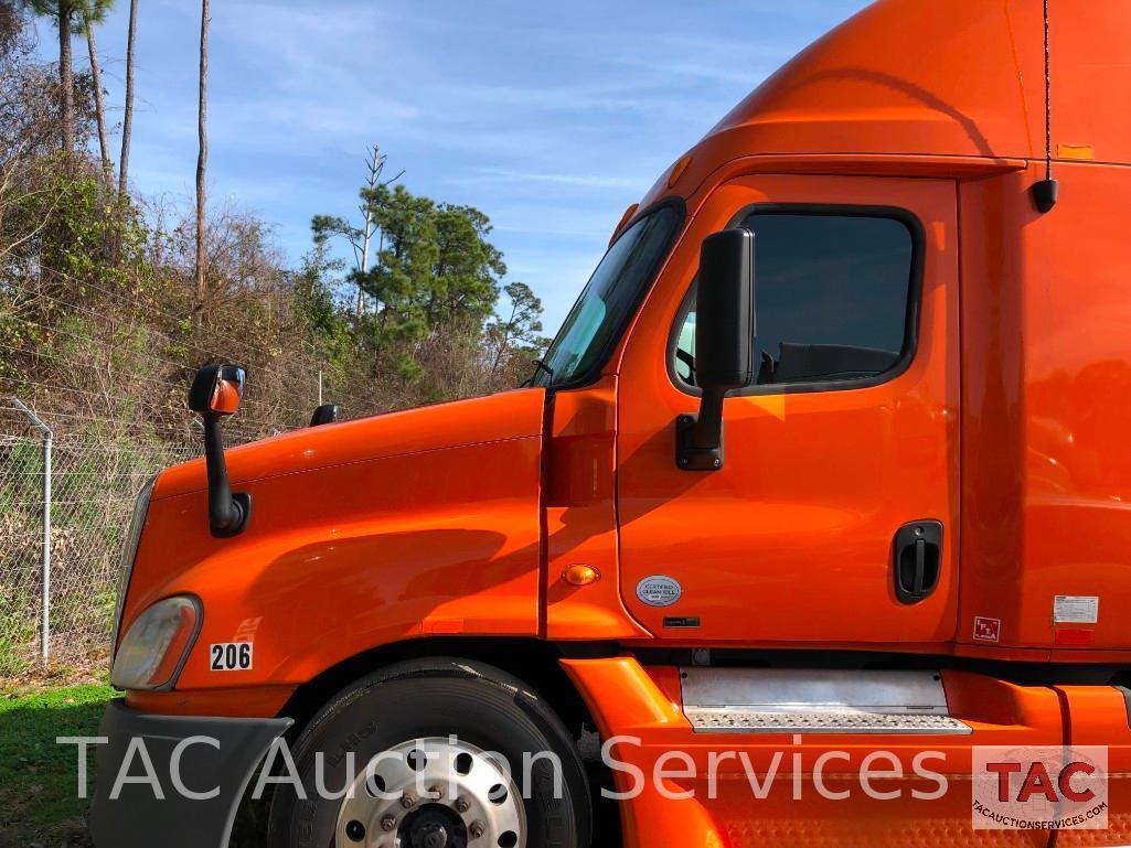
[[[968,734],[970,728],[950,716],[886,715],[879,712],[759,712],[742,709],[688,707],[684,713],[696,733],[742,734]]]

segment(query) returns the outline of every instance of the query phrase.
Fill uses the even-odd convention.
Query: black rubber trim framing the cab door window
[[[912,268],[907,280],[907,313],[904,323],[904,348],[899,358],[890,369],[875,377],[864,377],[854,380],[820,380],[814,382],[770,383],[768,386],[748,386],[744,389],[728,391],[727,397],[748,397],[757,395],[797,395],[813,391],[846,391],[848,389],[867,389],[882,386],[895,380],[910,366],[918,349],[920,315],[923,303],[923,274],[926,258],[926,234],[923,223],[909,210],[898,206],[853,206],[837,204],[749,204],[742,207],[727,223],[727,228],[742,224],[751,215],[829,215],[848,218],[890,218],[907,227],[912,236]],[[754,259],[757,262],[757,257]],[[684,395],[699,397],[699,387],[689,386],[675,370],[675,351],[680,344],[680,331],[687,320],[688,312],[694,303],[698,274],[688,286],[675,320],[667,336],[667,354],[665,367],[672,384]],[[756,284],[757,285],[757,284]],[[757,314],[757,312],[756,312]]]

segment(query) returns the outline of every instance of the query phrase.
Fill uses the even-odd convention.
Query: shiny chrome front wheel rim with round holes
[[[454,736],[412,739],[360,767],[337,848],[526,848],[526,807],[498,755]]]

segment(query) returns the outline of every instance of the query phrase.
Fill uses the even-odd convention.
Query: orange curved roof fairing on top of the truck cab
[[[1050,25],[1053,157],[1131,163],[1128,0],[1052,0]],[[873,3],[723,118],[675,188],[742,156],[813,154],[1043,159],[1042,0]]]

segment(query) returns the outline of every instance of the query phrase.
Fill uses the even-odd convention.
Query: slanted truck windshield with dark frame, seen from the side
[[[572,382],[598,364],[667,256],[680,218],[676,207],[662,206],[613,243],[550,345],[535,386]]]

